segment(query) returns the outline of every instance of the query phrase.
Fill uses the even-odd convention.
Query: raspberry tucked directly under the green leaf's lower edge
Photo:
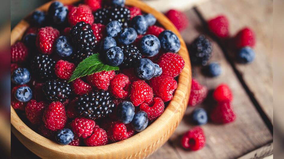
[[[107,90],[114,75],[114,71],[101,71],[87,76],[87,81],[97,89]]]

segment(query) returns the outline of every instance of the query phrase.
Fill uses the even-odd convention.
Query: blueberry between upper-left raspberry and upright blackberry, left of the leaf
[[[55,41],[55,51],[59,56],[67,57],[73,53],[73,48],[70,39],[66,36],[60,36]]]

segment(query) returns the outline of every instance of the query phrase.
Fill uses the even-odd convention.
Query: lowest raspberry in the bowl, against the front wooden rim
[[[101,146],[109,142],[106,131],[100,128],[98,125],[94,128],[93,134],[84,139],[84,143],[87,146]]]

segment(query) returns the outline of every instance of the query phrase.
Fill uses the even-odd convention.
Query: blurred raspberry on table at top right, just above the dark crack
[[[229,21],[225,15],[219,15],[208,22],[209,30],[219,38],[229,35]]]

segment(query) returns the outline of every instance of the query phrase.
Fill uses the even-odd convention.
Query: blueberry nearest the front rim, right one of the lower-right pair
[[[131,126],[135,131],[141,132],[146,129],[148,121],[147,113],[144,111],[139,111],[134,115]]]

